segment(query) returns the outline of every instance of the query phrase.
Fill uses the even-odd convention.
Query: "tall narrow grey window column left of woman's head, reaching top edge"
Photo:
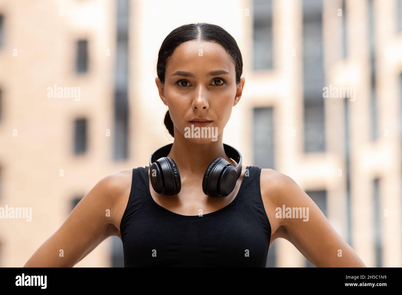
[[[129,36],[129,1],[117,0],[117,44],[115,59],[115,136],[113,158],[128,157],[128,36]]]

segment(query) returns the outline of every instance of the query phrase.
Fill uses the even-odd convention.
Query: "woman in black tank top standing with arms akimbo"
[[[25,267],[72,267],[112,235],[122,239],[125,267],[265,267],[277,238],[289,240],[317,267],[365,267],[286,175],[242,167],[229,195],[210,197],[203,190],[211,161],[238,164],[226,154],[222,136],[242,95],[242,67],[237,43],[223,28],[197,23],[173,30],[159,51],[156,85],[168,106],[164,122],[174,142],[164,156],[174,159],[177,177],[180,171],[177,190],[158,193],[149,166],[104,177]],[[215,136],[189,136],[191,125],[210,127]],[[302,208],[308,216],[281,218],[285,212],[277,208]]]

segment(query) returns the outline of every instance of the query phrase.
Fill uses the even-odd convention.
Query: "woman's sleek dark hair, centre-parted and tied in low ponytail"
[[[165,83],[166,64],[174,49],[176,49],[178,45],[191,40],[209,41],[222,45],[233,59],[236,70],[236,85],[240,83],[240,77],[243,72],[243,59],[236,40],[222,27],[216,24],[199,22],[195,24],[184,24],[183,26],[175,28],[162,42],[156,66],[156,72],[162,84]],[[166,112],[164,123],[169,134],[174,137],[173,122],[170,118],[169,110]]]

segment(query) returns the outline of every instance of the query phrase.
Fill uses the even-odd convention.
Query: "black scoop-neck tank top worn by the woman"
[[[120,224],[124,267],[266,267],[271,224],[260,168],[247,166],[249,176],[236,197],[202,216],[177,214],[156,203],[148,169],[133,169]]]

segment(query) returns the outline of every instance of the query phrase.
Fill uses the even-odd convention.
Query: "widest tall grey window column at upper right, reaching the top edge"
[[[303,0],[304,151],[325,151],[322,0]]]

